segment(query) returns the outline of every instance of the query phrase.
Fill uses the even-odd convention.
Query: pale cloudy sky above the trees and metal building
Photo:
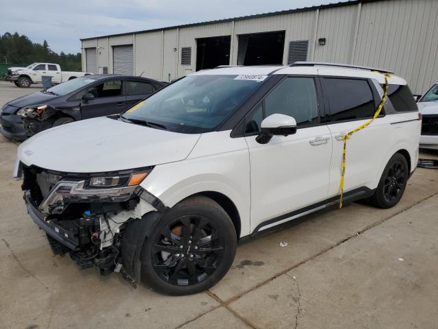
[[[340,0],[16,0],[1,5],[0,34],[18,32],[60,53],[79,39],[275,12]]]

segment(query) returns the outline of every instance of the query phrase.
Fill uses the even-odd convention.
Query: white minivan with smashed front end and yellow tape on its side
[[[392,207],[416,167],[420,115],[406,82],[388,81],[381,114],[348,139],[344,202]],[[227,273],[237,241],[339,204],[342,136],[373,116],[384,83],[309,62],[199,71],[120,117],[33,136],[14,175],[55,254],[196,293]]]

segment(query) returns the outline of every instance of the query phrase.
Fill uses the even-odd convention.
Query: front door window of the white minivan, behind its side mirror
[[[245,119],[245,133],[259,132],[261,121],[275,113],[294,117],[298,127],[318,123],[318,98],[313,77],[287,77],[276,86]]]

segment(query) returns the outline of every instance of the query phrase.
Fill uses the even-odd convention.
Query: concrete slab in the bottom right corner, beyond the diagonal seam
[[[438,196],[229,304],[255,328],[436,328]]]

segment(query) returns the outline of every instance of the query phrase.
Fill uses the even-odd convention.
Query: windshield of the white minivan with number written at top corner
[[[123,119],[159,124],[173,132],[214,130],[266,76],[189,75],[127,110]]]

